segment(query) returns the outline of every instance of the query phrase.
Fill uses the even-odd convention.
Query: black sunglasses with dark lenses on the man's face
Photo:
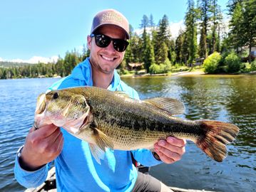
[[[121,38],[111,38],[103,34],[91,34],[91,37],[95,37],[95,43],[100,48],[106,48],[111,41],[113,41],[113,47],[118,52],[126,50],[129,42]]]

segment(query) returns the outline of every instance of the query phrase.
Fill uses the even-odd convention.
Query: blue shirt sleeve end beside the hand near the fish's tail
[[[143,166],[155,166],[163,163],[163,161],[155,159],[152,151],[148,149],[137,149],[131,152],[133,153],[134,159],[140,162],[140,164],[143,164]]]

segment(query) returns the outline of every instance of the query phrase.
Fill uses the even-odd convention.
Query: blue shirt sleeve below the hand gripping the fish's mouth
[[[49,163],[50,164],[50,163]],[[46,181],[49,164],[41,167],[36,171],[26,171],[22,169],[19,164],[19,157],[16,155],[14,164],[14,176],[16,180],[26,188],[36,188],[40,186],[41,183]]]

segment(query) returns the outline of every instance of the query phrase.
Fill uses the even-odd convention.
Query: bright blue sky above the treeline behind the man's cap
[[[0,0],[0,61],[48,61],[81,50],[91,31],[93,16],[103,9],[120,11],[139,28],[143,15],[157,24],[168,16],[178,28],[188,0]],[[225,9],[228,0],[219,0]],[[178,31],[178,29],[177,29]]]

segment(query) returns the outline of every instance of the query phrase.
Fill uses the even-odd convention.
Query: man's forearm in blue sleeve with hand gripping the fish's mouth
[[[31,128],[21,154],[16,156],[16,180],[27,188],[39,186],[46,179],[48,163],[56,159],[62,147],[63,136],[59,127],[49,124],[37,130]]]

